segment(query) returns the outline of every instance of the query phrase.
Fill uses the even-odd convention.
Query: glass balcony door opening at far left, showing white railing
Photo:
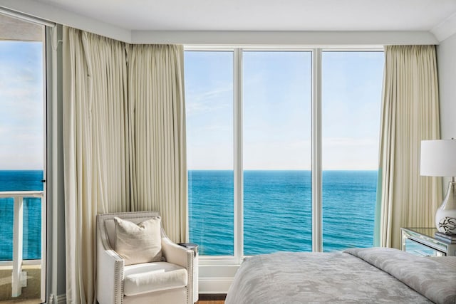
[[[0,23],[0,274],[12,282],[0,300],[43,301],[44,26],[1,14]]]

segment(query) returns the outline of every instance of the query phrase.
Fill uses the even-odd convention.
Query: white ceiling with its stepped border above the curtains
[[[186,46],[439,44],[456,0],[0,0],[0,13],[126,43]]]

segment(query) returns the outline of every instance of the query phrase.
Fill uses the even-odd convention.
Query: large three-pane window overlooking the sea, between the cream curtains
[[[380,51],[186,51],[190,241],[202,256],[372,246],[382,77]]]

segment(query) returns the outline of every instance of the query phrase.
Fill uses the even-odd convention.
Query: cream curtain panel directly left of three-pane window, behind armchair
[[[160,210],[173,241],[187,240],[182,46],[132,46],[128,55],[132,210]]]

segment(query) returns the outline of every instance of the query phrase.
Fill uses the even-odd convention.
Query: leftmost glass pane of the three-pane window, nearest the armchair
[[[185,52],[190,239],[234,254],[233,52]]]

